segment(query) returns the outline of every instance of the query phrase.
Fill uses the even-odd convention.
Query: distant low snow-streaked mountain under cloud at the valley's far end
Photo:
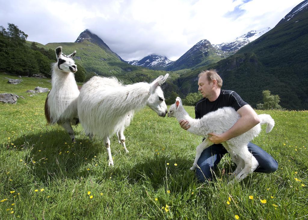
[[[173,61],[169,60],[167,57],[159,56],[156,54],[148,55],[141,60],[128,61],[128,64],[135,66],[147,67],[149,69],[162,70],[166,66],[171,65]]]

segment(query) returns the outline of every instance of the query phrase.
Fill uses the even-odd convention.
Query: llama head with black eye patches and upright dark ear
[[[70,55],[64,55],[62,53],[62,47],[56,48],[58,68],[61,72],[64,72],[64,73],[70,73],[70,72],[76,73],[77,72],[77,65],[72,60],[72,57],[74,57],[75,54],[76,54],[76,50]]]

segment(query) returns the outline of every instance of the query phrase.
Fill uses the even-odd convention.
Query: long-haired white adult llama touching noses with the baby
[[[159,87],[169,74],[151,84],[140,82],[122,85],[115,78],[92,77],[80,90],[78,116],[86,135],[103,139],[108,154],[108,165],[113,165],[110,136],[117,132],[126,152],[124,128],[129,125],[135,110],[148,105],[159,116],[166,116],[164,93]]]

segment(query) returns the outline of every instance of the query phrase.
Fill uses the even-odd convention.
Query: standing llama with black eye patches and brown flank
[[[62,53],[62,47],[56,48],[57,62],[52,66],[51,91],[45,101],[45,116],[48,124],[58,123],[65,128],[75,141],[71,124],[78,124],[77,98],[79,89],[75,81],[77,66],[71,59],[74,53],[66,56]]]

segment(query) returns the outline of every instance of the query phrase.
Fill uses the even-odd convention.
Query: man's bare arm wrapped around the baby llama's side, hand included
[[[250,105],[242,106],[237,110],[237,113],[240,114],[241,117],[232,126],[232,128],[222,133],[221,135],[209,133],[209,135],[212,135],[209,137],[209,140],[217,144],[222,143],[249,131],[251,128],[260,123],[260,119],[257,113],[253,110],[253,108],[250,107]]]

